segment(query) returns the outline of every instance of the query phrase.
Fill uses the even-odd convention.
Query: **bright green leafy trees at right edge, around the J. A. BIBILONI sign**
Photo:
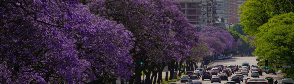
[[[251,42],[256,47],[254,55],[270,62],[294,64],[294,0],[249,0],[239,10],[245,34],[255,37]],[[277,64],[269,65],[271,69]],[[282,69],[290,78],[294,78],[293,71]]]

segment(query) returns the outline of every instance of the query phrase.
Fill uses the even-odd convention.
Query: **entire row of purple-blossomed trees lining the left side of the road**
[[[132,84],[143,71],[150,84],[164,66],[171,79],[184,61],[240,45],[225,29],[198,32],[180,9],[173,0],[1,0],[0,83]]]

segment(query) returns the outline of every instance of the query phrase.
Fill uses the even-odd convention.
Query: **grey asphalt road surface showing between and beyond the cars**
[[[215,62],[212,65],[242,65],[243,62],[248,62],[250,66],[252,65],[257,65],[257,61],[256,57],[235,57],[235,58],[231,58],[231,59],[226,59],[226,60],[215,60]],[[251,67],[250,67],[251,68]],[[244,80],[243,82],[241,82],[241,84],[245,84],[245,79],[247,77],[251,76],[251,71],[249,71],[248,73],[249,76],[244,76]],[[216,76],[216,75],[214,75]],[[232,76],[235,76],[234,74],[231,75],[228,79],[230,81],[230,78],[232,78]],[[259,78],[265,78],[265,76],[272,76],[274,80],[278,80],[278,83],[280,83],[280,80],[283,79],[283,76],[280,74],[280,72],[276,72],[276,75],[274,74],[266,74],[265,72],[263,72],[263,76],[259,76]],[[200,77],[200,81],[202,81],[202,77]],[[227,81],[225,80],[221,80],[221,83],[218,84],[224,84]],[[185,82],[181,83],[181,81],[176,81],[177,84],[185,84]],[[208,79],[205,79],[204,81],[202,81],[202,84],[213,84],[211,83],[211,81],[209,81]]]

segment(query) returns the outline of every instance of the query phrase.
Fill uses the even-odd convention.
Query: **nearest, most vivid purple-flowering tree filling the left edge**
[[[77,0],[0,2],[1,84],[132,76],[133,39],[122,24],[91,14]]]

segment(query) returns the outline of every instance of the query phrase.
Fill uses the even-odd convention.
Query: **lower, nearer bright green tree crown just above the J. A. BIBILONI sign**
[[[268,59],[270,62],[282,62],[294,64],[294,13],[275,16],[258,28],[255,35],[256,46],[254,54],[259,59]],[[282,64],[281,64],[282,65]],[[272,66],[269,64],[269,68]],[[293,69],[283,69],[287,73],[293,73]],[[288,74],[294,78],[294,74]]]

